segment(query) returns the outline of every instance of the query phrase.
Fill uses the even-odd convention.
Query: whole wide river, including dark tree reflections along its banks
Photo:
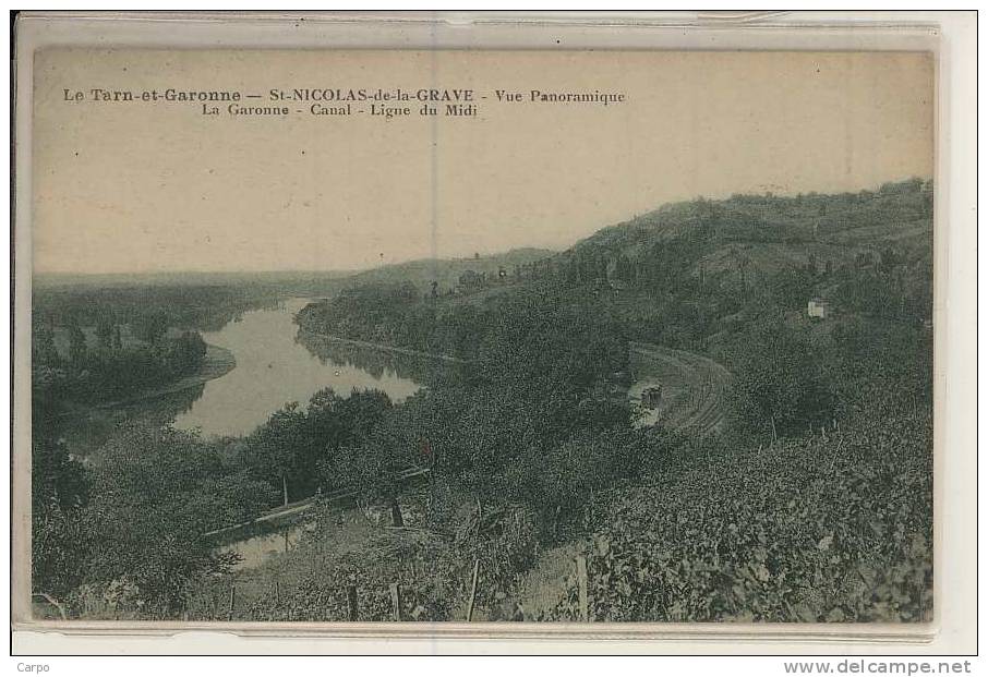
[[[441,361],[347,346],[299,333],[294,314],[308,299],[288,299],[278,307],[248,311],[203,338],[212,352],[232,355],[221,375],[188,388],[168,387],[154,396],[115,404],[77,404],[50,432],[80,457],[95,452],[120,425],[168,425],[198,430],[205,436],[249,435],[287,402],[305,406],[314,392],[332,387],[342,397],[353,388],[376,388],[400,402],[427,383]],[[222,349],[222,350],[218,350]]]

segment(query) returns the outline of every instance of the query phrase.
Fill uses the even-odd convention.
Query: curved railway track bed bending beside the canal
[[[631,342],[629,350],[635,378],[628,389],[631,401],[640,402],[646,388],[662,386],[659,408],[646,410],[640,425],[661,421],[700,435],[723,427],[723,395],[731,378],[723,365],[703,355],[652,343]]]

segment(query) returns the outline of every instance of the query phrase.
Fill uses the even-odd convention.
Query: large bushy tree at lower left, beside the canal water
[[[141,425],[123,427],[93,458],[86,531],[98,547],[86,581],[136,587],[161,615],[176,615],[191,585],[227,571],[236,556],[217,554],[205,533],[229,524],[231,493],[267,499],[252,484],[218,492],[233,481],[216,446],[196,434]]]

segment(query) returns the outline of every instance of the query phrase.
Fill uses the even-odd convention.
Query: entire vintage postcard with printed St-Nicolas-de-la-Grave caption
[[[38,50],[31,617],[929,624],[935,63]]]

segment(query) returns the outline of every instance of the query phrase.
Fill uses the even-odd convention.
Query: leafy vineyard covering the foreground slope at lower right
[[[591,617],[929,620],[929,414],[885,411],[879,426],[863,418],[620,493],[583,547]],[[547,618],[578,618],[576,605],[570,580]]]

